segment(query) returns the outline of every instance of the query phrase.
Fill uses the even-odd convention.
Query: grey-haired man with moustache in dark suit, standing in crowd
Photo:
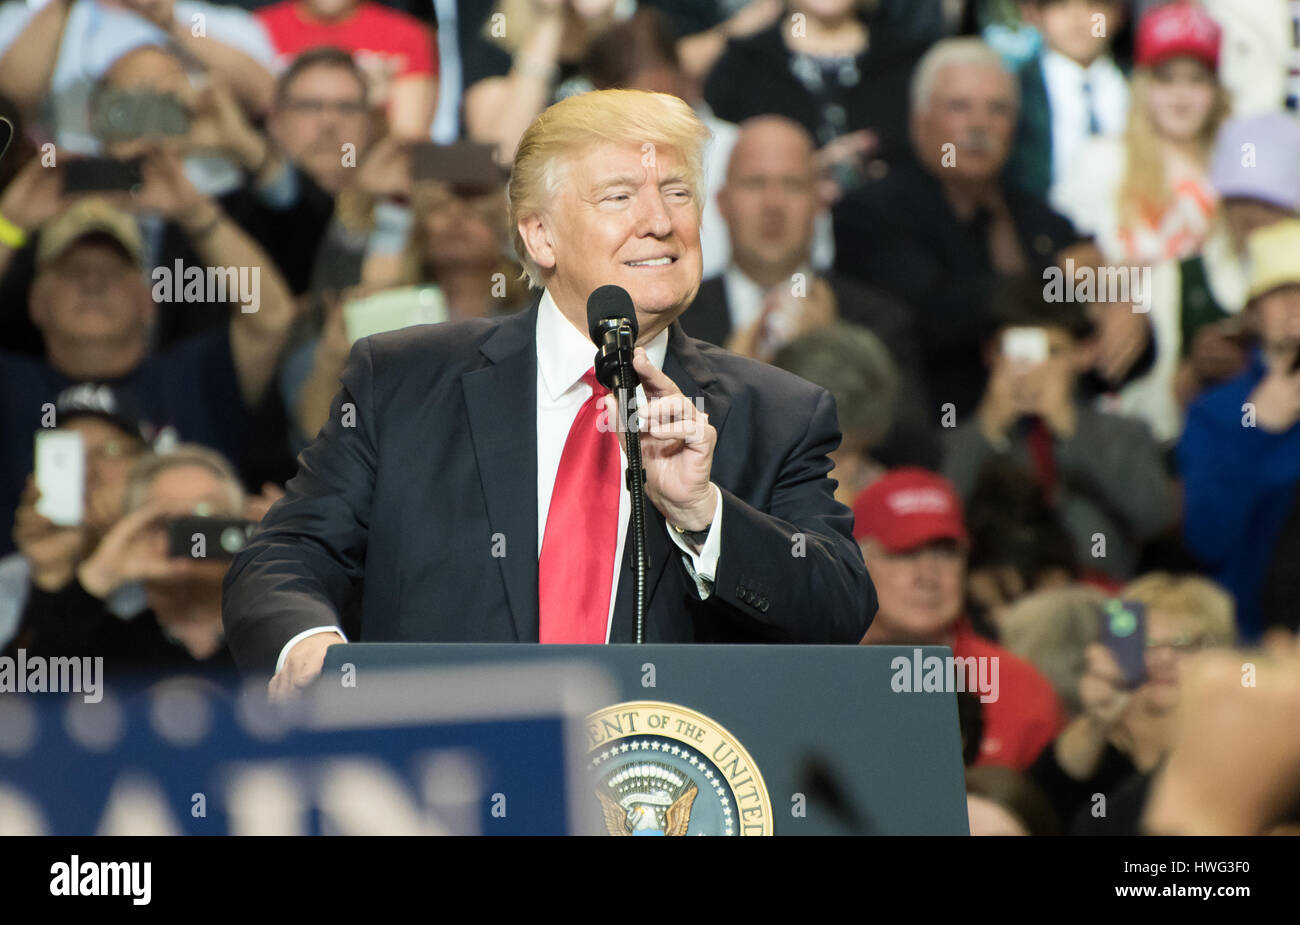
[[[1015,116],[1015,82],[996,51],[971,38],[936,43],[913,77],[915,157],[833,210],[836,272],[915,310],[935,421],[970,416],[984,391],[997,278],[1041,278],[1079,240],[1045,201],[1001,184]]]

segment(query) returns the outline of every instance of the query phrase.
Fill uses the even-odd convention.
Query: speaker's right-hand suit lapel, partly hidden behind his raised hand
[[[668,329],[668,352],[664,355],[663,372],[677,383],[677,387],[688,398],[702,399],[701,404],[708,422],[718,430],[719,444],[722,443],[723,422],[731,408],[731,401],[718,388],[718,377],[696,347],[696,342],[682,333],[681,325],[672,323]],[[716,459],[716,450],[715,450]],[[677,546],[668,539],[668,526],[663,514],[646,498],[646,552],[650,563],[646,568],[646,637],[650,635],[650,609],[654,602],[659,579],[671,559],[682,555]],[[614,625],[610,627],[610,642],[636,642],[636,615],[633,612],[633,559],[632,559],[632,520],[628,520],[628,529],[623,543],[623,561],[619,563],[619,590],[614,607]]]

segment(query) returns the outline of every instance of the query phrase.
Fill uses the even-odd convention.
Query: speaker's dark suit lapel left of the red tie
[[[537,642],[537,304],[497,327],[489,365],[460,377],[469,434],[516,639]]]

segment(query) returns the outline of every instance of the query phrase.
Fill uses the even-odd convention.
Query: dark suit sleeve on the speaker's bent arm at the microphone
[[[857,643],[876,591],[853,540],[853,514],[835,500],[828,453],[838,446],[835,399],[818,395],[809,427],[759,511],[727,488],[714,594],[772,642]]]

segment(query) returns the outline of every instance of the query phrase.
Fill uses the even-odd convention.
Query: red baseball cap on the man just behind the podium
[[[953,483],[927,469],[893,469],[853,501],[853,538],[870,537],[889,552],[936,539],[966,540],[962,501]]]

